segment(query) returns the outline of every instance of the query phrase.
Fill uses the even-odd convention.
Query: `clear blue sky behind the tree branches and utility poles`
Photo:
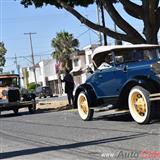
[[[121,6],[118,7],[122,9]],[[95,5],[88,8],[78,8],[78,10],[89,19],[96,21]],[[124,16],[130,19],[127,15]],[[31,55],[29,36],[24,35],[24,33],[37,33],[32,35],[34,54],[41,55],[35,57],[36,63],[49,57],[53,50],[51,48],[51,40],[56,36],[57,32],[64,30],[72,33],[75,38],[79,39],[80,49],[90,43],[98,42],[98,36],[95,32],[81,25],[70,13],[65,10],[58,10],[53,6],[39,9],[35,9],[34,6],[24,8],[19,0],[0,0],[0,22],[0,41],[5,43],[7,49],[7,62],[4,71],[16,71],[14,59],[11,59],[15,54],[17,57]],[[138,30],[142,30],[139,21],[130,19],[130,22],[133,25],[136,24]],[[113,23],[108,15],[106,15],[106,24],[113,28]],[[108,41],[113,43],[111,38]],[[30,58],[28,57],[27,59]],[[31,63],[25,58],[18,58],[17,61],[21,67],[31,66]]]

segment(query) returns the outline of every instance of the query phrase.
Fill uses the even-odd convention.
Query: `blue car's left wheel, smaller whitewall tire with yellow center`
[[[78,113],[82,120],[89,121],[93,118],[94,110],[89,108],[90,99],[88,98],[85,92],[81,92],[78,95],[77,99],[77,106],[78,106]]]

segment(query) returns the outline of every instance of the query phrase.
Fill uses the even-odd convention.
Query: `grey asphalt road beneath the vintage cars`
[[[160,120],[138,125],[129,114],[96,113],[84,122],[77,110],[7,112],[0,118],[0,159],[158,160]]]

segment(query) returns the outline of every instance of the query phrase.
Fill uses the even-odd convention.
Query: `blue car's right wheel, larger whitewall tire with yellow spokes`
[[[149,92],[141,86],[131,89],[128,97],[129,111],[133,119],[139,124],[147,124],[151,120],[151,104]]]

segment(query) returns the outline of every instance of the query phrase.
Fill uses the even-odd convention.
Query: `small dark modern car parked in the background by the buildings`
[[[46,98],[48,96],[53,97],[52,89],[48,86],[45,86],[45,87],[39,86],[36,88],[34,93],[36,97],[39,97],[39,98],[42,98],[42,97]]]

